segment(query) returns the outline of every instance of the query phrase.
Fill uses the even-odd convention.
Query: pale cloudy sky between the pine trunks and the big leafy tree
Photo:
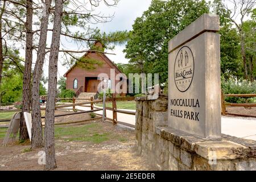
[[[109,1],[111,2],[111,1]],[[132,30],[132,26],[134,20],[143,14],[143,11],[146,11],[150,6],[151,0],[121,0],[115,7],[107,7],[104,3],[101,3],[100,6],[95,8],[96,13],[104,14],[104,15],[114,15],[114,18],[111,22],[107,23],[97,23],[93,25],[94,27],[98,27],[102,32],[114,32],[114,31],[122,31],[122,30]],[[61,38],[65,47],[69,49],[76,50],[77,46],[75,43],[70,43],[64,40],[65,38]],[[51,44],[51,33],[48,35],[47,39],[48,45]],[[122,46],[115,46],[113,50],[105,50],[109,53],[115,53],[115,55],[107,56],[110,60],[115,63],[128,63],[129,60],[125,58],[125,54],[122,52],[125,48],[125,44]],[[36,55],[34,56],[36,57]],[[61,65],[61,57],[59,56],[59,64],[58,64],[58,78],[64,75],[65,72],[68,71],[68,66]],[[46,59],[44,63],[44,76],[48,77],[48,60]],[[47,88],[47,84],[45,85]]]

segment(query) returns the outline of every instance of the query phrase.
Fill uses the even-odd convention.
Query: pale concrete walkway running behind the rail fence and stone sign
[[[72,109],[72,107],[69,107]],[[76,109],[90,110],[90,107],[76,106]],[[136,111],[129,109],[120,109],[127,111]],[[96,111],[97,114],[102,114],[102,111]],[[110,110],[106,110],[106,116],[113,118],[113,113]],[[135,125],[135,115],[117,113],[117,121],[122,121]],[[221,118],[221,133],[232,135],[234,137],[256,140],[256,118]]]

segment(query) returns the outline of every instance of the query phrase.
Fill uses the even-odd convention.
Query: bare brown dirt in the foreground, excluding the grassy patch
[[[127,138],[101,143],[57,139],[56,170],[150,170],[146,160],[134,150],[134,131],[102,123],[104,129]],[[65,126],[66,127],[66,126]],[[68,127],[68,126],[67,126]],[[0,140],[0,143],[2,140]],[[30,143],[0,147],[0,170],[43,170],[38,152],[29,151]],[[42,150],[42,149],[41,149]],[[26,152],[27,151],[27,152]]]

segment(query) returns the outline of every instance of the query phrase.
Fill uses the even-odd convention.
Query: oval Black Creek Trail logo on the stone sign
[[[194,76],[194,56],[187,46],[180,48],[174,63],[174,82],[180,92],[186,92]]]

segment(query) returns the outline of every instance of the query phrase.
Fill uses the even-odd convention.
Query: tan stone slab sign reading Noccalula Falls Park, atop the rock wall
[[[168,126],[221,137],[220,20],[203,14],[169,42]]]

